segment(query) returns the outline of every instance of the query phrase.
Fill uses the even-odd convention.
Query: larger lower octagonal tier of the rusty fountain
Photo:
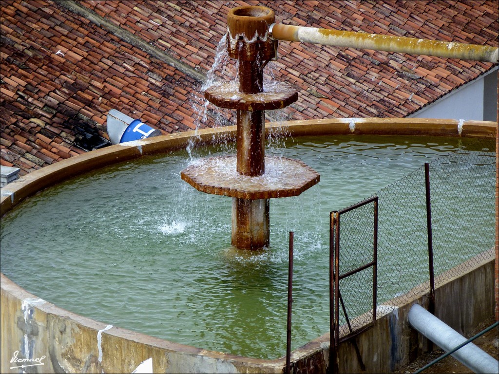
[[[257,177],[236,171],[236,156],[201,159],[181,172],[197,190],[247,200],[297,196],[319,183],[320,175],[298,160],[265,157],[265,173]]]

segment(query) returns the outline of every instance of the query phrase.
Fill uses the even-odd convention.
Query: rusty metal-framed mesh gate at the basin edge
[[[331,214],[334,335],[339,342],[376,322],[378,198]]]

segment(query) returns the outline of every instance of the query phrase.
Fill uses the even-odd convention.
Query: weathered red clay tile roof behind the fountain
[[[22,175],[108,145],[113,108],[165,133],[231,123],[212,106],[202,122],[201,85],[227,12],[256,4],[287,24],[498,45],[495,1],[2,0],[1,165]],[[493,67],[294,42],[278,53],[268,72],[299,91],[295,120],[408,116]]]

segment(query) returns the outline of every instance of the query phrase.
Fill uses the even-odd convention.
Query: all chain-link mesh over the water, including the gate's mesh
[[[435,284],[463,274],[493,258],[495,244],[495,139],[481,139],[466,149],[429,164]],[[377,306],[394,298],[408,301],[430,289],[425,170],[422,166],[377,192]],[[372,259],[374,205],[345,209],[341,215],[339,269],[345,274]],[[345,304],[340,336],[351,333],[346,321],[368,323],[376,282],[373,270],[341,279]]]

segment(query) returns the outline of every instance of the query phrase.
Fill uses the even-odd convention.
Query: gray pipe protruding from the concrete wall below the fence
[[[468,340],[418,304],[409,311],[409,324],[446,352]],[[475,373],[499,373],[499,362],[473,343],[451,356]]]

